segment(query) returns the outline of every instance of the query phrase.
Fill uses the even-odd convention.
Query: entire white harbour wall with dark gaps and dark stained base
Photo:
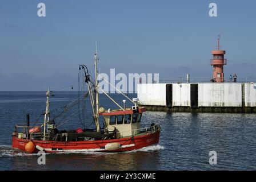
[[[139,105],[147,110],[256,113],[256,84],[138,84]]]

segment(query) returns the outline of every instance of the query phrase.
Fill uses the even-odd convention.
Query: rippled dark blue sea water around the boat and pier
[[[125,98],[111,94],[120,105]],[[129,94],[130,98],[136,94]],[[77,100],[77,92],[55,92],[50,98],[51,117],[63,123],[59,129],[94,128],[90,101],[69,107],[59,117],[63,106]],[[102,94],[105,109],[118,107]],[[37,163],[37,154],[27,154],[11,148],[11,133],[15,124],[43,122],[45,92],[0,92],[0,169],[1,170],[255,170],[256,114],[166,113],[146,111],[142,127],[158,122],[160,141],[135,151],[102,153],[69,151],[47,154],[46,164]],[[127,101],[127,106],[129,101]],[[79,110],[79,111],[78,111]],[[39,118],[39,116],[41,117]],[[38,119],[39,118],[39,119]],[[210,151],[217,153],[217,164],[209,163]]]

